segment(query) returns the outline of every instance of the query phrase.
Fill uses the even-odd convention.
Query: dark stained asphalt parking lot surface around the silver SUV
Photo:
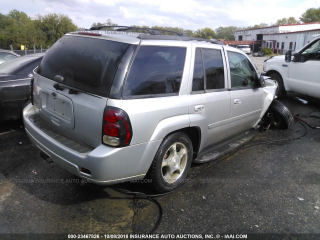
[[[281,101],[294,115],[320,126],[319,104],[303,98],[287,94]],[[20,121],[3,123],[0,239],[9,239],[6,233],[61,233],[56,235],[61,239],[70,233],[149,233],[161,215],[152,199],[162,209],[154,231],[159,234],[285,233],[290,239],[291,233],[305,233],[294,239],[319,239],[307,233],[320,234],[320,128],[295,121],[287,130],[257,132],[244,147],[192,164],[186,185],[147,199],[116,190],[155,193],[144,181],[80,184],[40,158]]]

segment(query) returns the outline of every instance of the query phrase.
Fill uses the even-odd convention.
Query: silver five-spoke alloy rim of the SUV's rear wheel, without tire
[[[167,183],[175,182],[183,173],[187,163],[187,148],[181,142],[173,143],[163,156],[162,178]]]

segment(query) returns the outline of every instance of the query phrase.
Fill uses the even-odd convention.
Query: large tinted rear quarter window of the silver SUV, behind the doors
[[[124,84],[123,97],[177,95],[184,58],[182,47],[139,47]]]

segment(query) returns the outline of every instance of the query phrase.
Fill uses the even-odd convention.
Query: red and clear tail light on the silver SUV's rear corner
[[[126,112],[117,107],[106,106],[103,112],[102,142],[122,147],[129,145],[131,138],[131,123]]]

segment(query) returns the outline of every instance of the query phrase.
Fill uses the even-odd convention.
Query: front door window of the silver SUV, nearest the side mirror
[[[232,51],[228,51],[227,55],[230,65],[231,87],[254,87],[257,74],[247,57]]]

